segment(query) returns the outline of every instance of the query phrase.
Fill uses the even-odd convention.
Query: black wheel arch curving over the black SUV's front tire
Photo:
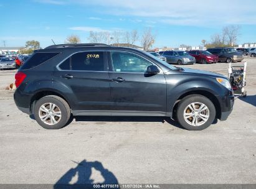
[[[178,108],[179,101],[181,101],[181,99],[183,99],[184,97],[189,96],[191,94],[200,94],[200,95],[205,96],[206,98],[210,99],[216,109],[216,118],[220,119],[221,108],[220,108],[219,100],[216,98],[216,96],[214,94],[212,94],[209,91],[204,91],[204,90],[187,91],[186,93],[181,94],[179,96],[179,98],[176,99],[173,109],[171,110],[173,117],[176,116],[176,110]]]

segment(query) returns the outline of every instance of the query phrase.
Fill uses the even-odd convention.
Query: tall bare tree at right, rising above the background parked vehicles
[[[229,25],[222,29],[222,37],[225,37],[227,44],[234,46],[237,42],[239,36],[240,26],[239,25]]]

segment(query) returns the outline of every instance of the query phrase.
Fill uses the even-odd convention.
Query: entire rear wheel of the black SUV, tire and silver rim
[[[45,129],[60,129],[70,119],[69,104],[59,96],[44,96],[36,102],[34,116]]]

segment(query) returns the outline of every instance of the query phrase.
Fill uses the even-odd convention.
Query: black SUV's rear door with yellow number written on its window
[[[54,80],[69,88],[73,109],[107,110],[111,107],[107,52],[77,52],[60,63]]]

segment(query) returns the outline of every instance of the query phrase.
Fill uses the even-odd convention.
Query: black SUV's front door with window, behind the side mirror
[[[153,65],[130,52],[110,52],[110,91],[113,111],[131,114],[160,115],[166,113],[166,80],[163,71],[146,74]]]

